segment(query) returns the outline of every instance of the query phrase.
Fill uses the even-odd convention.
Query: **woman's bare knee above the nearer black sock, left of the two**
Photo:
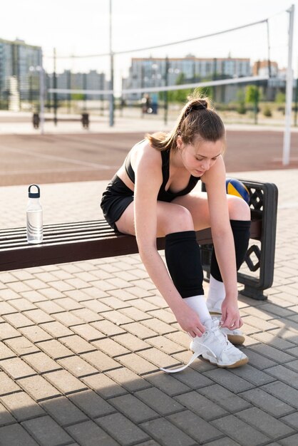
[[[163,234],[194,230],[192,215],[186,207],[175,204],[173,208],[163,209],[158,214],[158,224]]]

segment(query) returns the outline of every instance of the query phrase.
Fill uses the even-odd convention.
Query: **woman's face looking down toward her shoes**
[[[202,175],[215,164],[216,160],[222,154],[224,144],[222,140],[200,141],[199,143],[183,144],[178,141],[183,165],[194,177]]]

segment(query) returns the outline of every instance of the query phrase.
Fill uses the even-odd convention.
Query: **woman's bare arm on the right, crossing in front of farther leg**
[[[225,301],[222,304],[222,326],[230,327],[231,321],[235,327],[242,325],[237,305],[237,266],[235,244],[225,191],[225,164],[222,156],[204,175],[208,206],[210,213],[211,232],[217,263],[225,284]]]

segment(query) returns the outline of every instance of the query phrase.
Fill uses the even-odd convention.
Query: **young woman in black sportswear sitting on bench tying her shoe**
[[[207,98],[192,98],[170,133],[147,135],[130,150],[101,207],[111,227],[136,236],[150,278],[192,337],[191,361],[202,355],[230,368],[248,361],[231,342],[244,341],[237,269],[250,239],[250,208],[225,192],[224,149],[222,120]],[[207,192],[193,191],[198,180]],[[195,231],[206,227],[215,247],[207,301],[195,239]],[[163,236],[168,269],[156,248],[156,237]],[[220,313],[220,321],[208,308]]]

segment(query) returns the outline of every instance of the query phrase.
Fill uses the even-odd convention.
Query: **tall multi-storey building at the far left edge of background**
[[[40,46],[0,39],[0,108],[20,110],[22,100],[38,95]]]

